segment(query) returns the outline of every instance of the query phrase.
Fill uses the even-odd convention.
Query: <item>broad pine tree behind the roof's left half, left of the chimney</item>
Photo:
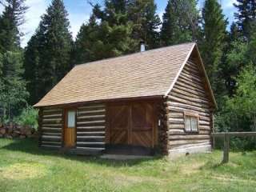
[[[96,19],[98,22],[96,22]],[[128,21],[126,1],[105,1],[98,4],[89,23],[83,25],[75,43],[78,62],[111,58],[134,50],[131,38],[133,23]]]

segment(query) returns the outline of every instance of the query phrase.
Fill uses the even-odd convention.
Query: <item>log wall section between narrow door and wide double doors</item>
[[[105,150],[106,106],[102,103],[78,107],[77,149]]]

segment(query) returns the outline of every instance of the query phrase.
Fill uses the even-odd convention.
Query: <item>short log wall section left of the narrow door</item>
[[[40,112],[39,146],[62,147],[63,110],[60,108],[42,108]]]

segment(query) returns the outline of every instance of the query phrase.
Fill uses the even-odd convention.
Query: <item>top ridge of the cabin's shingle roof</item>
[[[194,45],[194,44],[196,44],[196,42],[183,42],[183,43],[172,45],[172,46],[159,47],[159,48],[156,48],[156,49],[153,49],[153,50],[146,50],[146,51],[143,51],[143,52],[136,52],[136,53],[131,53],[131,54],[120,55],[120,56],[117,56],[117,57],[114,57],[114,58],[102,58],[102,59],[96,60],[94,62],[85,62],[85,63],[81,63],[81,64],[76,64],[74,67],[96,64],[97,62],[108,61],[108,60],[112,60],[112,59],[115,59],[115,58],[126,58],[126,57],[134,55],[134,54],[146,54],[146,53],[153,52],[153,51],[156,51],[156,50],[163,50],[163,49],[166,49],[166,48],[170,48],[170,47],[174,47],[174,46],[183,46],[183,45],[187,45],[187,44],[193,44]]]

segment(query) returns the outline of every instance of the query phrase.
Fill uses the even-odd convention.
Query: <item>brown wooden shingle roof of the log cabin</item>
[[[164,96],[195,46],[186,43],[74,66],[35,106]]]

